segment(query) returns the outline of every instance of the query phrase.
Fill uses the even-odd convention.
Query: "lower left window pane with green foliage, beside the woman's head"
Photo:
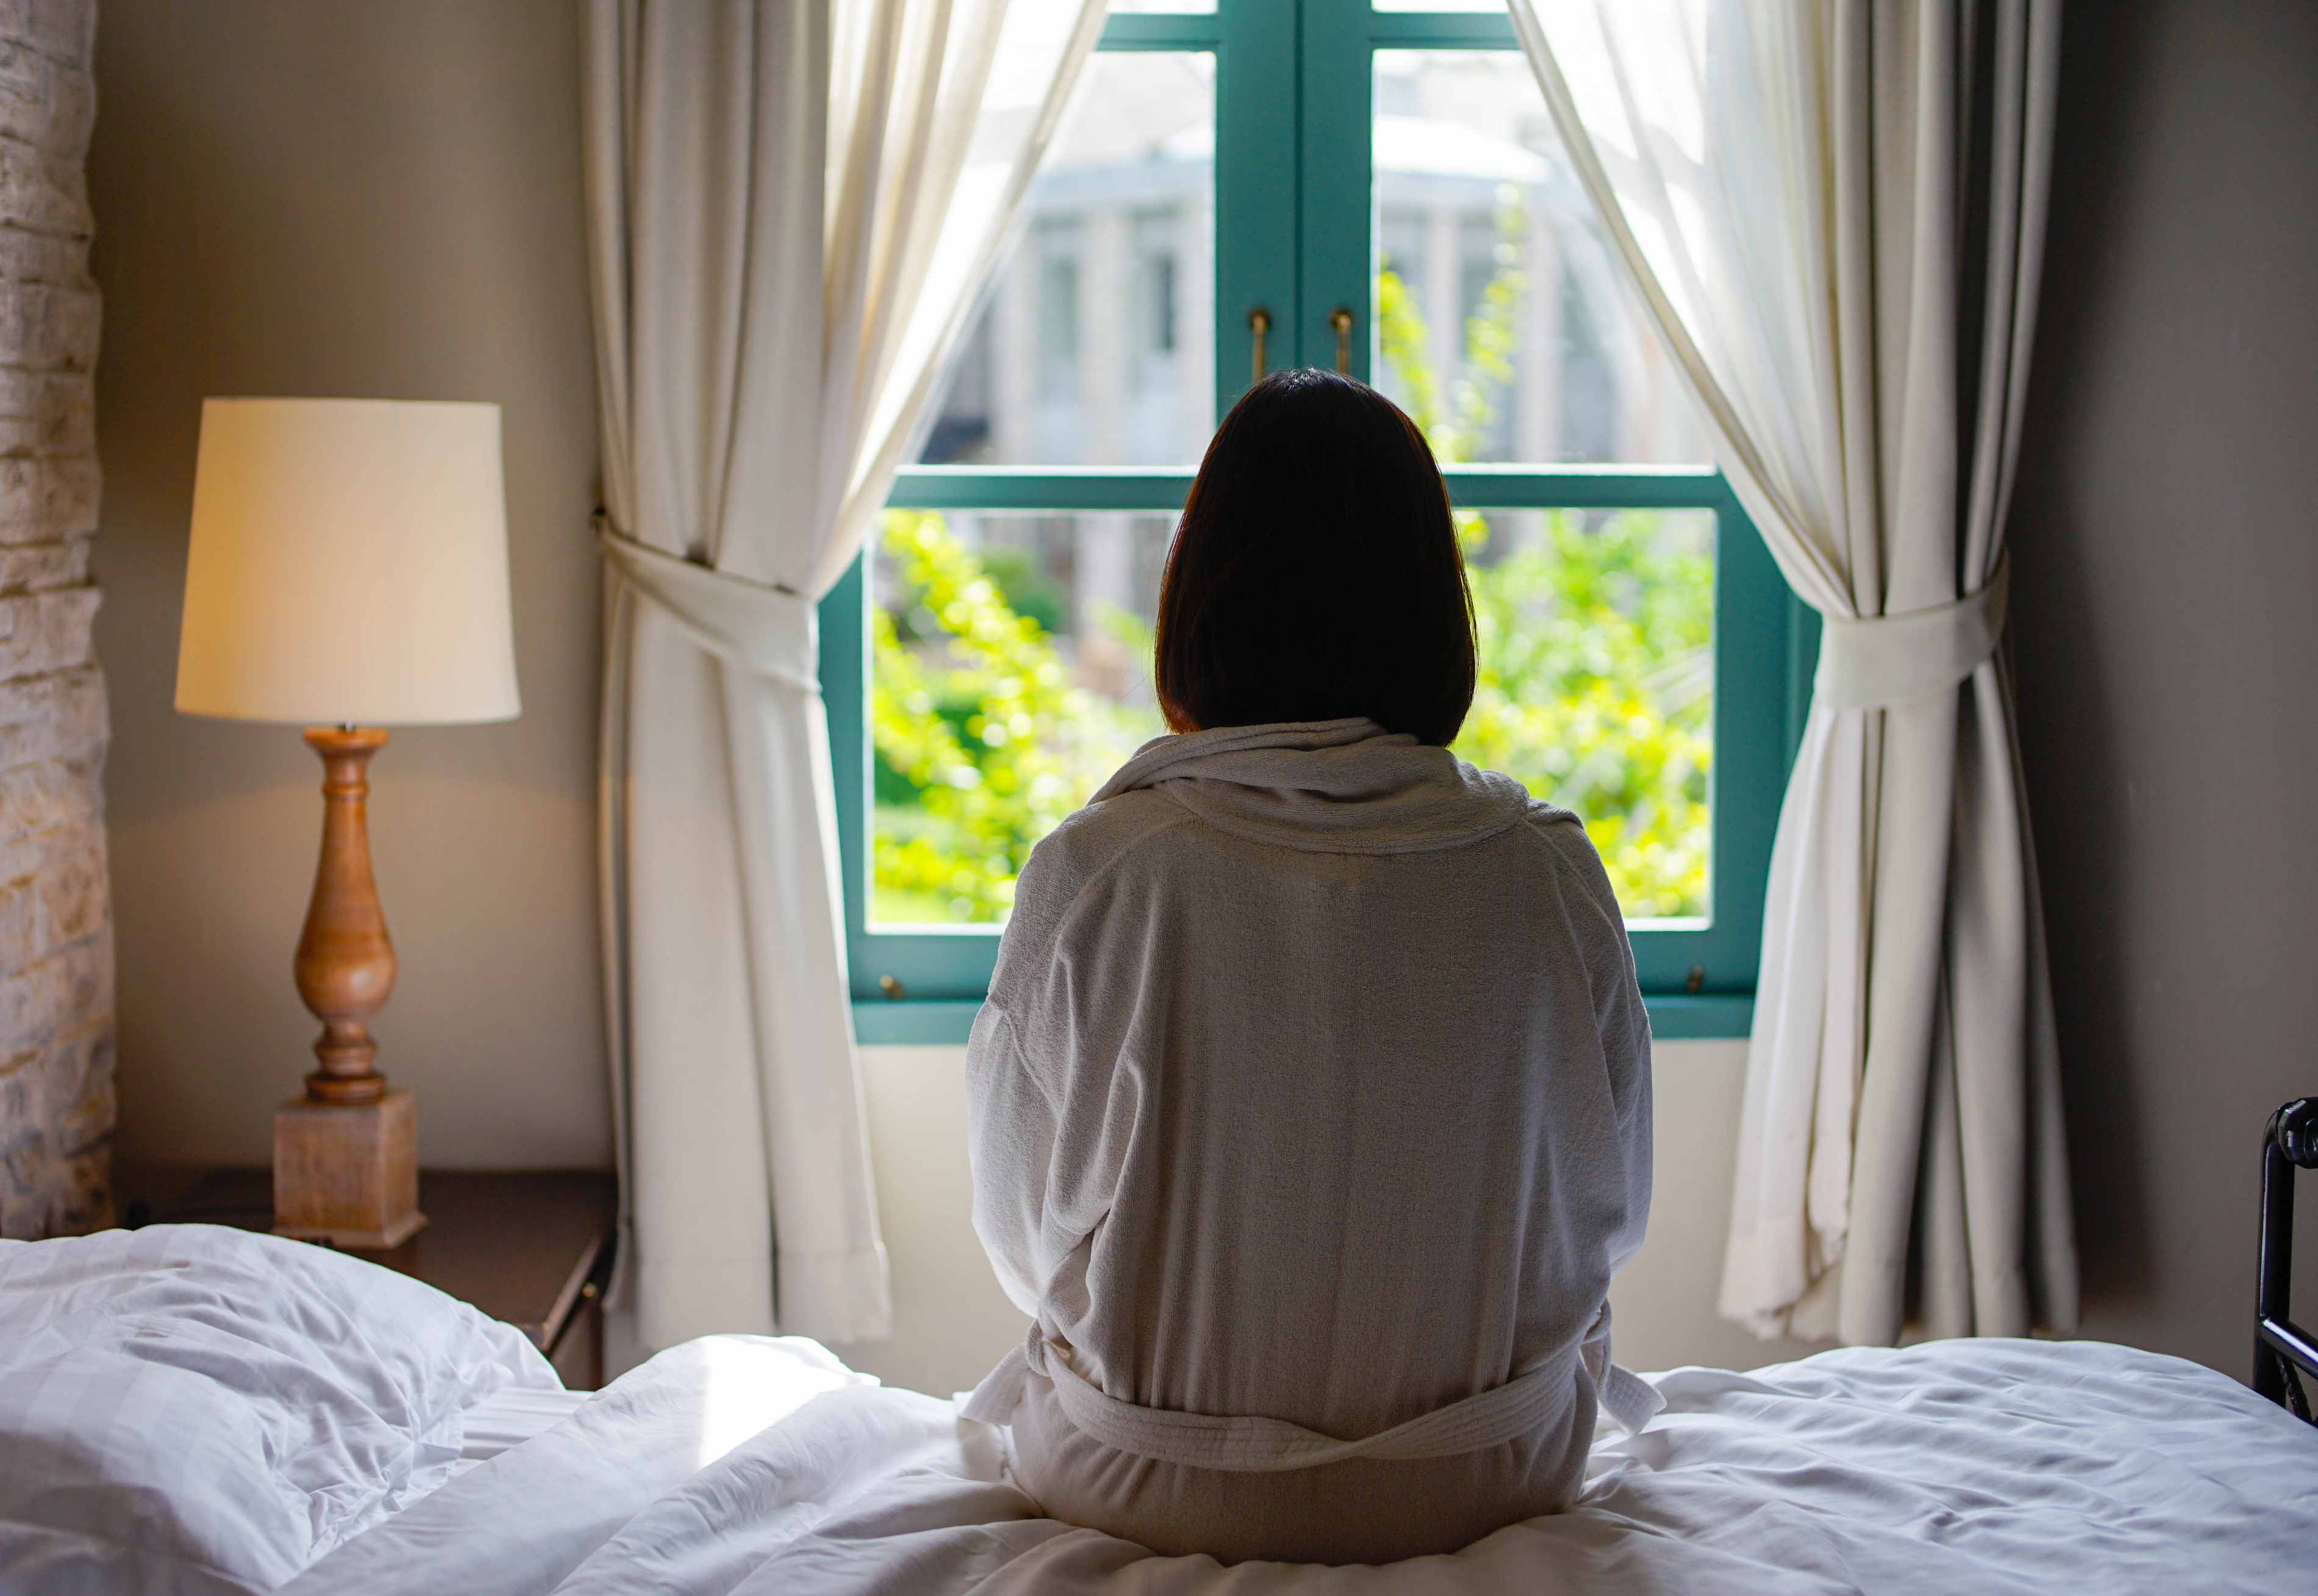
[[[888,510],[869,563],[869,922],[1006,917],[1032,843],[1164,732],[1164,514]]]

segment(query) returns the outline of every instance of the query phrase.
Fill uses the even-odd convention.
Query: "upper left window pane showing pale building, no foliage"
[[[920,454],[1175,466],[1215,431],[1215,56],[1096,53]]]

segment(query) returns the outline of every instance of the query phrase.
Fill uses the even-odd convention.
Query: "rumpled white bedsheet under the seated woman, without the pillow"
[[[2095,1341],[1676,1369],[1576,1510],[1391,1568],[1161,1559],[1036,1517],[997,1434],[714,1337],[343,1545],[290,1596],[1553,1596],[2318,1589],[2318,1432]],[[774,1415],[767,1429],[749,1434]]]

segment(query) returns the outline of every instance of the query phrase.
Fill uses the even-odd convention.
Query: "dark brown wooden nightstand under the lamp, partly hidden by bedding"
[[[274,1223],[267,1170],[216,1170],[151,1223]],[[387,1253],[352,1253],[427,1281],[531,1337],[570,1390],[603,1385],[603,1283],[619,1186],[596,1170],[422,1170],[427,1228]]]

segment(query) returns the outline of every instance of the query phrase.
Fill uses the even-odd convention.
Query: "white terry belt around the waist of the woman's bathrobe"
[[[1627,1432],[1648,1425],[1650,1415],[1664,1406],[1664,1397],[1653,1385],[1609,1360],[1606,1304],[1579,1346],[1579,1364],[1595,1385],[1602,1413]],[[1351,1457],[1463,1457],[1539,1434],[1569,1401],[1569,1367],[1548,1357],[1504,1385],[1433,1408],[1372,1436],[1340,1441],[1277,1418],[1217,1418],[1120,1401],[1073,1367],[1069,1344],[1048,1341],[1038,1325],[1032,1325],[1022,1346],[1011,1350],[967,1399],[964,1418],[990,1425],[1013,1422],[1032,1374],[1052,1381],[1062,1415],[1080,1434],[1136,1457],[1231,1473],[1284,1473]]]

